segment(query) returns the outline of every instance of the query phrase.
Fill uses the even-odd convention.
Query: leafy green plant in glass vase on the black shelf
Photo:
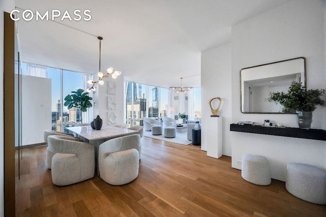
[[[316,105],[324,105],[324,101],[320,99],[324,93],[323,89],[307,90],[302,83],[292,82],[287,93],[270,93],[267,100],[283,105],[283,112],[296,111],[299,127],[310,129],[312,112],[316,109]]]

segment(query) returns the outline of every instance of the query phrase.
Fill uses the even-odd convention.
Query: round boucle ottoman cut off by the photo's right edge
[[[285,188],[304,201],[326,204],[326,171],[307,164],[290,163]]]

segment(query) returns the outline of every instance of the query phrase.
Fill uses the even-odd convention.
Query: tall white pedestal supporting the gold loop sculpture
[[[207,156],[222,156],[222,117],[207,119]]]

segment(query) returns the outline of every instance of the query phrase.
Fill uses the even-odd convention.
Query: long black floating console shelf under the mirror
[[[293,137],[310,140],[326,141],[326,130],[322,129],[301,129],[293,127],[263,127],[251,125],[230,124],[230,131],[249,132],[266,135],[279,135],[281,137]]]

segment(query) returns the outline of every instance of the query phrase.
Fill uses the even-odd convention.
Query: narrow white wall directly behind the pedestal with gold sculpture
[[[221,97],[222,104],[218,115],[223,118],[222,153],[223,155],[231,156],[231,44],[203,51],[201,62],[202,130],[205,130],[207,119],[211,118],[210,116],[212,115],[208,101],[213,97]],[[240,109],[240,107],[238,108]],[[207,150],[206,134],[205,131],[202,131],[204,136],[202,137],[202,150]]]

